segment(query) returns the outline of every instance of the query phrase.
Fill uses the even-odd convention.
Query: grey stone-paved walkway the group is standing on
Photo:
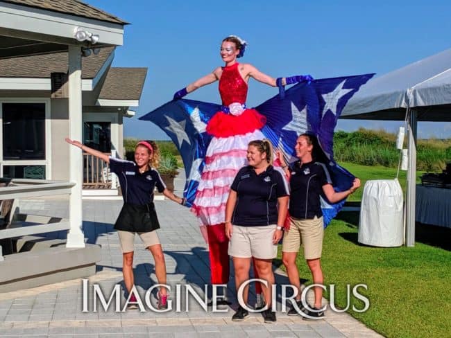
[[[176,189],[180,195],[184,179],[178,178]],[[82,312],[83,290],[81,279],[66,281],[0,294],[0,337],[381,337],[348,314],[328,310],[321,321],[304,321],[301,317],[288,317],[280,312],[274,324],[263,323],[260,314],[251,314],[241,322],[232,322],[232,308],[227,312],[205,312],[201,305],[189,299],[189,311],[155,313],[128,310],[114,312],[101,307],[93,311],[92,284],[97,284],[105,295],[114,285],[121,285],[121,251],[119,239],[112,224],[119,213],[121,200],[84,199],[83,230],[87,242],[101,244],[102,260],[98,272],[89,278],[89,311]],[[170,201],[155,202],[162,225],[160,240],[167,262],[168,284],[172,285],[171,298],[176,303],[176,285],[190,285],[201,296],[209,283],[207,246],[198,230],[196,218],[187,208]],[[21,212],[39,215],[68,216],[67,199],[23,200]],[[53,233],[65,238],[64,233]],[[55,259],[58,259],[57,257]],[[144,294],[156,283],[155,267],[139,238],[135,238],[135,284]],[[276,283],[287,283],[287,277],[276,270]],[[185,289],[182,288],[182,292]],[[235,285],[230,278],[228,296],[235,301]],[[184,297],[183,297],[184,298]],[[253,304],[251,296],[250,304]],[[154,294],[151,300],[155,302]],[[123,299],[121,299],[123,301]],[[185,301],[181,301],[185,310]],[[173,305],[175,308],[175,304]]]

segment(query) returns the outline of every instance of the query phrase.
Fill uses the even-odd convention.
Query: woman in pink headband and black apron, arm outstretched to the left
[[[166,284],[166,264],[156,231],[160,229],[160,224],[153,204],[153,191],[156,186],[160,193],[179,204],[185,204],[185,199],[177,197],[168,190],[155,169],[160,158],[157,144],[153,141],[138,142],[135,147],[135,162],[132,162],[108,157],[103,152],[89,148],[79,141],[71,139],[66,139],[66,141],[109,163],[110,170],[119,178],[124,206],[122,206],[119,217],[114,224],[114,229],[117,230],[121,242],[122,274],[128,293],[130,294],[134,285],[133,242],[135,233],[138,233],[144,247],[152,253],[158,283]],[[129,295],[128,309],[137,308],[136,301],[134,294]],[[165,287],[161,287],[158,292],[158,308],[167,308],[167,290]]]

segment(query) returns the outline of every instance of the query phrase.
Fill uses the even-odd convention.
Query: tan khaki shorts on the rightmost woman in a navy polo
[[[284,232],[282,251],[298,252],[300,244],[303,244],[305,259],[321,258],[323,237],[323,217],[315,216],[311,220],[291,217],[290,229]]]

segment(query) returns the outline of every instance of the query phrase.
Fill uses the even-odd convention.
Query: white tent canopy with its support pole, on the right
[[[406,244],[415,242],[416,123],[451,121],[451,48],[374,78],[353,96],[341,118],[401,120],[407,116]]]

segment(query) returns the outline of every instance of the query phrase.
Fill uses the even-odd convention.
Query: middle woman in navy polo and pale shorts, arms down
[[[226,204],[226,235],[230,240],[228,253],[235,267],[235,285],[238,290],[249,279],[250,258],[253,257],[259,278],[268,282],[267,287],[263,285],[268,306],[263,312],[265,323],[276,321],[275,312],[271,310],[272,260],[282,238],[289,195],[282,173],[272,166],[272,154],[268,140],[250,141],[249,165],[237,173]],[[247,285],[243,299],[247,303]],[[232,320],[242,321],[248,315],[248,310],[239,305]]]

